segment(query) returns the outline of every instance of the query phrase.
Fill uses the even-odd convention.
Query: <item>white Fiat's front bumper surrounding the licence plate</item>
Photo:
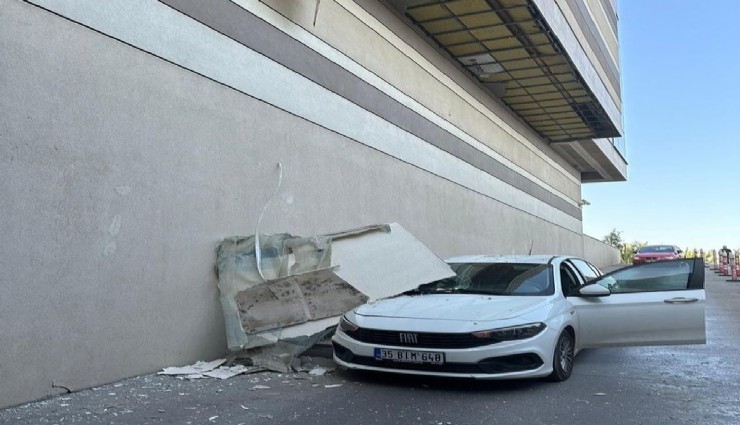
[[[473,379],[512,379],[549,375],[557,338],[556,331],[546,328],[542,333],[525,340],[475,348],[435,349],[369,344],[357,341],[337,329],[332,344],[334,361],[348,369]],[[376,348],[442,352],[445,362],[443,365],[432,365],[378,360],[375,358]]]

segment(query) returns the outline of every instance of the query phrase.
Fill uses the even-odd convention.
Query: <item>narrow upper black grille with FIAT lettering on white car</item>
[[[344,333],[357,341],[394,347],[454,349],[482,347],[500,342],[498,340],[476,338],[469,333],[402,332],[366,328],[358,328],[355,331],[345,330]]]

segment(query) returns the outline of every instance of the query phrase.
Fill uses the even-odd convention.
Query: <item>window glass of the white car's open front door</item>
[[[617,270],[596,283],[612,294],[689,289],[694,267],[688,261],[661,261]]]

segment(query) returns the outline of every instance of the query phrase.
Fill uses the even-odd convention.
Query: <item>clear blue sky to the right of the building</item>
[[[583,185],[584,233],[740,249],[740,1],[618,10],[627,181]]]

